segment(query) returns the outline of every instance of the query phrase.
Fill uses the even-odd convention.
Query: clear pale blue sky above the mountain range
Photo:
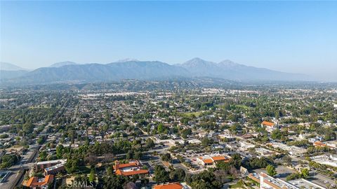
[[[337,1],[0,1],[0,61],[27,69],[194,57],[337,81]]]

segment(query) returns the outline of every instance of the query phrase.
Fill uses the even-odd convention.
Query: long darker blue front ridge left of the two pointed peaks
[[[57,83],[95,82],[122,79],[148,80],[152,78],[176,78],[187,75],[180,67],[164,62],[114,62],[110,64],[72,64],[60,67],[44,67],[16,78],[15,82]]]

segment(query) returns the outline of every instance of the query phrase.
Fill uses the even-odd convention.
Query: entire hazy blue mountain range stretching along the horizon
[[[15,71],[18,71],[18,69]],[[310,77],[303,74],[284,73],[270,69],[256,68],[244,64],[237,64],[230,60],[216,63],[194,58],[183,64],[138,61],[136,59],[124,59],[110,64],[58,62],[49,67],[42,67],[29,72],[26,71],[20,76],[6,77],[1,74],[1,81],[3,83],[46,84],[88,83],[123,79],[165,80],[197,77],[239,81],[310,80]]]

